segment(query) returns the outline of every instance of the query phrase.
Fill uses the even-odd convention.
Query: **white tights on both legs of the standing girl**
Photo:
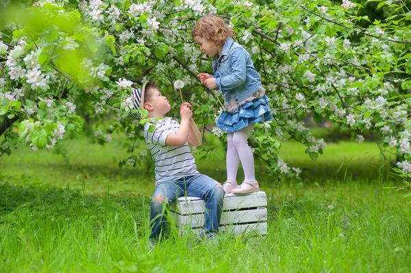
[[[227,135],[228,146],[227,158],[225,159],[227,164],[227,181],[237,181],[237,170],[240,161],[244,170],[244,180],[256,181],[253,152],[247,144],[247,139],[251,135],[254,125],[255,123],[251,123],[248,127],[234,133],[228,133]]]

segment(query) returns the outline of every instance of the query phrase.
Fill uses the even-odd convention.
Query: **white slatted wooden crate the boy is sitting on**
[[[267,233],[267,200],[265,192],[247,195],[226,194],[219,231],[236,235]],[[182,229],[201,231],[204,224],[204,200],[197,197],[182,196],[171,205],[175,225]]]

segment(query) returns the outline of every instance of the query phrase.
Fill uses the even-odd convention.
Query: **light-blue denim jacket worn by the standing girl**
[[[250,54],[240,44],[228,37],[221,56],[212,60],[216,86],[225,100],[240,102],[262,88],[260,75],[253,65]]]

